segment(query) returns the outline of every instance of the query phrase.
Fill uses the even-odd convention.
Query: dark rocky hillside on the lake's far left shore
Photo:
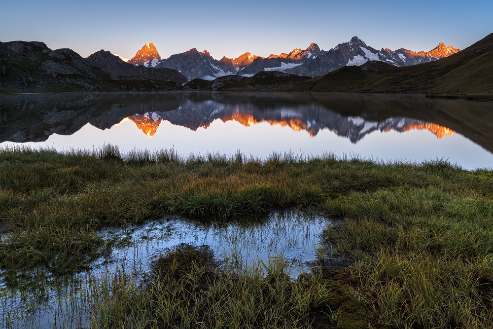
[[[182,90],[174,81],[118,76],[91,65],[71,49],[43,42],[0,42],[0,93]]]

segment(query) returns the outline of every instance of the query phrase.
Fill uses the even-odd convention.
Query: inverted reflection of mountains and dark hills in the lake
[[[0,141],[42,142],[87,123],[135,122],[149,137],[163,120],[197,130],[214,120],[287,126],[316,136],[328,129],[357,143],[380,131],[459,133],[493,151],[493,104],[416,95],[292,93],[47,94],[0,98]],[[137,129],[136,128],[136,129]]]

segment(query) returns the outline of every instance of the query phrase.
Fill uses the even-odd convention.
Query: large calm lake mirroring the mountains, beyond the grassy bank
[[[346,93],[91,93],[0,98],[0,146],[254,157],[272,152],[493,165],[493,103]]]

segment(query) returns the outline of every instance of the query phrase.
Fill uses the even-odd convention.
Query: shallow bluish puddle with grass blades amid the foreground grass
[[[174,246],[209,245],[218,260],[236,256],[244,264],[283,256],[295,278],[316,258],[320,233],[328,220],[296,211],[272,213],[264,219],[228,223],[202,222],[179,216],[149,220],[127,228],[106,228],[99,234],[113,245],[111,252],[91,263],[88,271],[64,282],[48,279],[42,270],[31,273],[45,278],[29,289],[10,289],[0,272],[2,328],[89,328],[91,282],[117,270],[140,280],[150,273],[152,261]],[[36,274],[37,273],[37,274]],[[39,282],[44,281],[44,282]]]

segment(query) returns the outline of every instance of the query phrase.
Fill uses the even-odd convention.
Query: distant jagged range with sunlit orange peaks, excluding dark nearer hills
[[[344,66],[362,65],[367,61],[382,61],[394,66],[409,66],[435,61],[455,54],[460,49],[439,43],[430,51],[414,52],[404,48],[376,50],[358,37],[338,44],[329,51],[321,50],[316,43],[302,50],[293,49],[280,55],[269,57],[244,53],[238,58],[223,57],[215,60],[206,50],[196,48],[162,59],[152,42],[147,42],[137,54],[128,61],[133,65],[169,68],[185,75],[188,79],[202,78],[212,80],[223,75],[252,76],[262,71],[282,71],[296,75],[314,77],[323,75]]]

